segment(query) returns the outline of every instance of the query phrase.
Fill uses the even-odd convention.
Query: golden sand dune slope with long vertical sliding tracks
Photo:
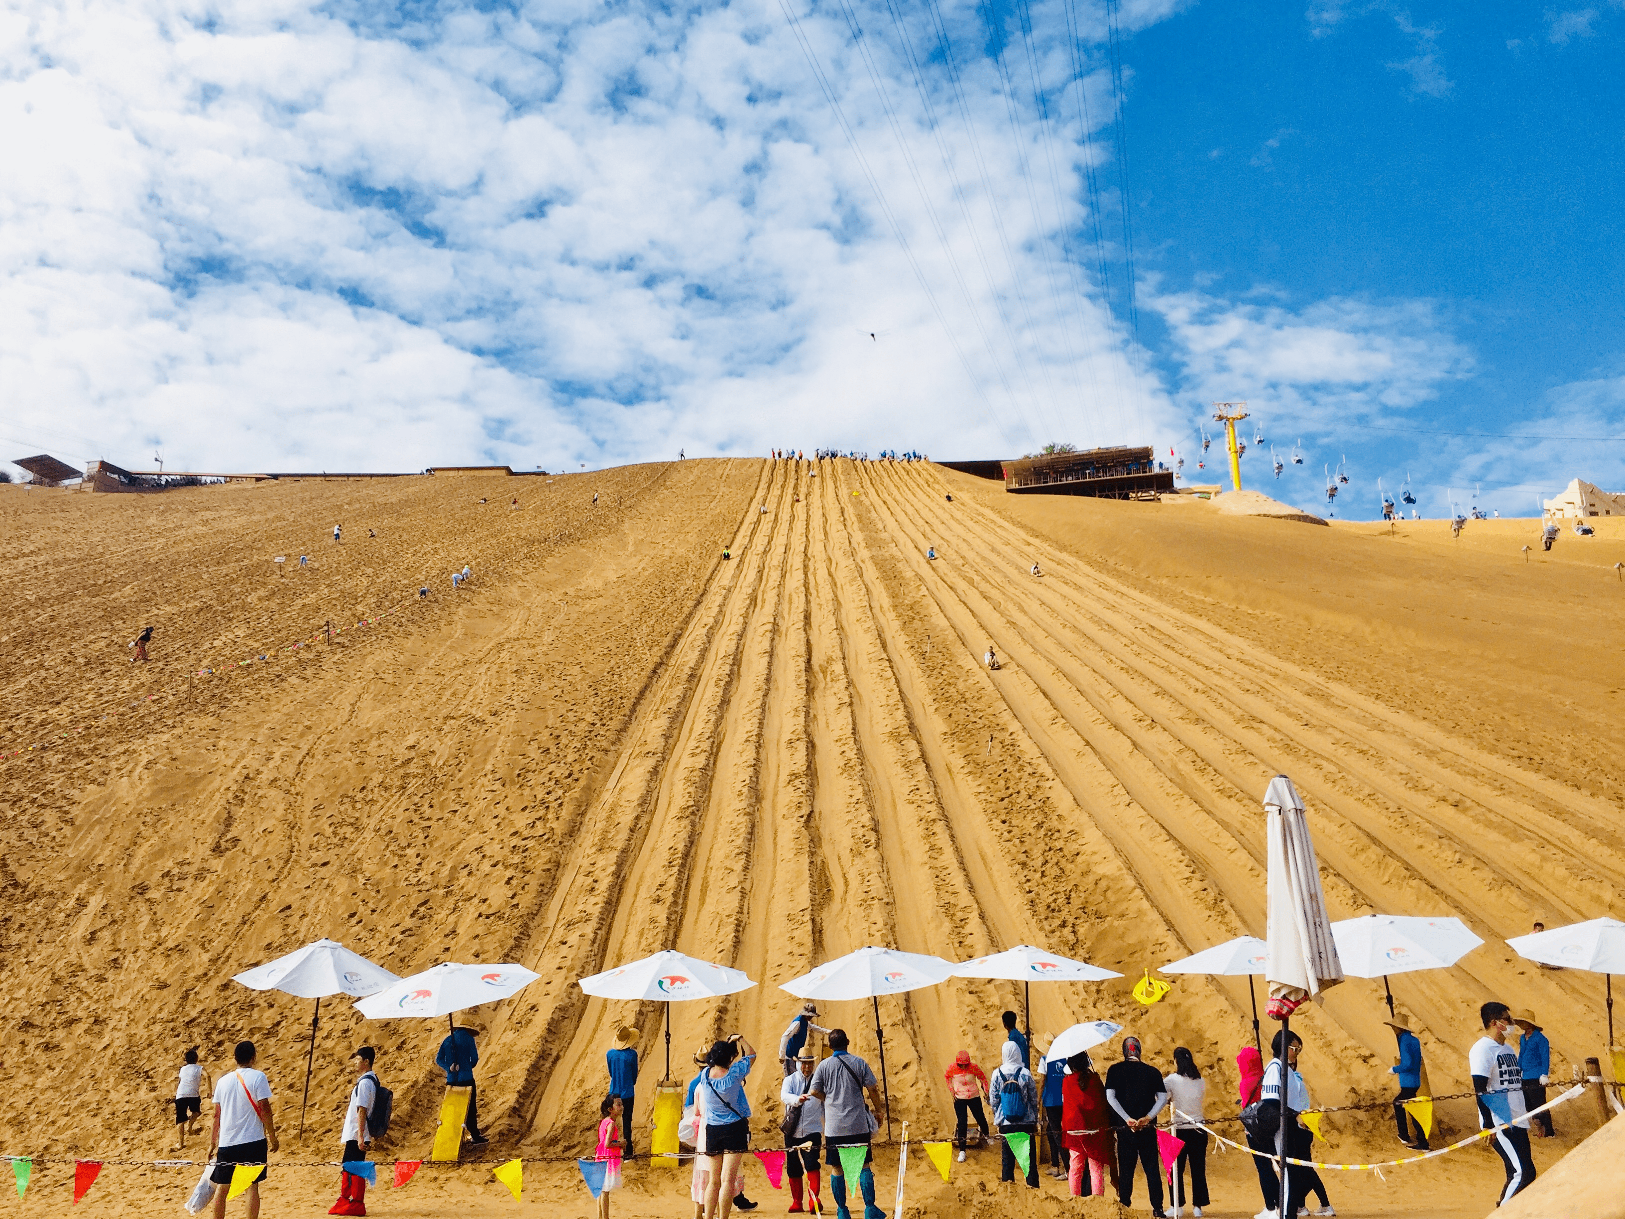
[[[522,512],[505,507],[515,488]],[[323,544],[330,517],[341,548]],[[500,1147],[526,1156],[587,1143],[616,1024],[640,1027],[658,1074],[661,1009],[572,982],[665,946],[769,983],[679,1004],[678,1073],[725,1030],[770,1053],[795,1009],[772,982],[860,944],[962,959],[1025,941],[1129,975],[1034,988],[1035,1027],[1118,1019],[1162,1066],[1190,1045],[1211,1113],[1228,1113],[1246,987],[1181,980],[1144,1009],[1128,985],[1263,933],[1258,798],[1279,770],[1310,803],[1334,917],[1451,912],[1490,941],[1394,983],[1436,1092],[1461,1091],[1492,995],[1547,1014],[1562,1074],[1604,1040],[1597,980],[1493,944],[1536,917],[1609,912],[1625,879],[1606,722],[1625,683],[1609,649],[1575,645],[1618,626],[1609,564],[1625,548],[1607,535],[1589,551],[1565,536],[1523,570],[1526,522],[1381,538],[845,462],[817,478],[686,462],[552,486],[6,494],[0,518],[24,540],[0,559],[15,592],[0,636],[28,644],[0,649],[0,751],[57,743],[0,762],[0,1060],[29,1079],[0,1102],[6,1151],[158,1154],[179,1048],[219,1061],[239,1035],[265,1045],[286,1113],[309,1011],[226,978],[318,935],[396,972],[450,957],[541,974],[491,1013],[481,1066]],[[382,544],[362,549],[375,520]],[[317,569],[268,574],[268,553],[301,548]],[[444,577],[431,603],[410,595],[463,561],[479,579],[457,598]],[[401,613],[340,642],[187,681],[403,592]],[[136,673],[122,642],[146,614],[162,647]],[[980,665],[988,642],[998,673]],[[101,720],[112,707],[125,715]],[[1380,996],[1354,980],[1303,1021],[1321,1104],[1386,1094]],[[951,983],[884,1001],[894,1115],[946,1130],[941,1066],[964,1045],[991,1066],[1014,1000]],[[869,1009],[830,1014],[874,1058]],[[437,1035],[335,1006],[306,1146],[336,1138],[341,1047],[367,1037],[398,1092],[395,1146],[421,1152]],[[752,1084],[764,1131],[772,1076]],[[41,1128],[41,1099],[86,1084],[89,1112]],[[1459,1133],[1469,1107],[1441,1118]],[[1560,1126],[1589,1130],[1578,1113]],[[1370,1159],[1384,1130],[1380,1113],[1337,1118],[1328,1154]],[[1238,1159],[1217,1214],[1256,1209]],[[1493,1196],[1484,1152],[1409,1172],[1430,1212]],[[1406,1212],[1381,1183],[1334,1190],[1341,1208]],[[569,1212],[585,1211],[575,1193]],[[671,1212],[661,1196],[621,1204]],[[944,1186],[931,1212],[980,1214],[980,1196]]]

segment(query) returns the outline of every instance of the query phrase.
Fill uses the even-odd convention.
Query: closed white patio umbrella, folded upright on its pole
[[[1269,847],[1269,928],[1266,931],[1268,959],[1264,982],[1269,983],[1269,1003],[1264,1013],[1280,1021],[1287,1032],[1290,1016],[1308,1000],[1320,1001],[1326,988],[1342,982],[1342,965],[1337,962],[1337,943],[1331,938],[1331,920],[1326,917],[1326,894],[1320,883],[1320,861],[1315,858],[1315,842],[1310,839],[1303,801],[1285,775],[1269,780],[1264,792],[1264,837]],[[1280,1063],[1280,1159],[1276,1170],[1280,1178],[1280,1196],[1287,1190],[1287,1113],[1289,1095],[1287,1065]]]

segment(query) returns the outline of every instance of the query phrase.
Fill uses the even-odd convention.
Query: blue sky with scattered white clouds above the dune
[[[1344,515],[1407,471],[1524,514],[1625,484],[1622,34],[1620,0],[20,0],[0,455],[1056,439],[1206,479],[1245,398],[1282,497],[1346,460]]]

